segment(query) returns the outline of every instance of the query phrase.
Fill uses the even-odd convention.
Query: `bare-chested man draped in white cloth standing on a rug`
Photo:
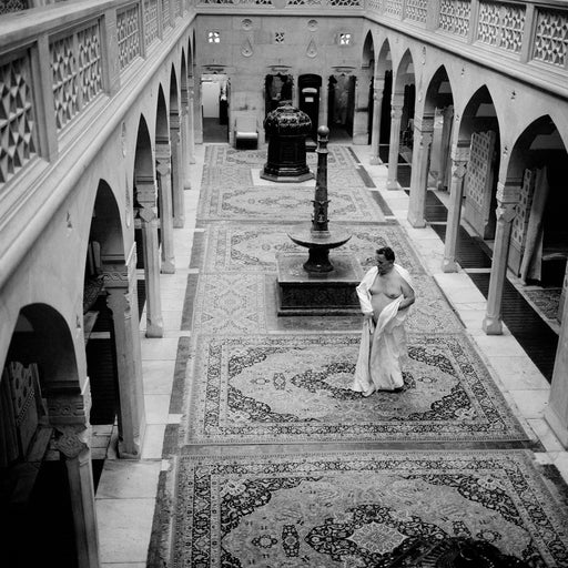
[[[369,396],[404,385],[400,362],[406,355],[404,323],[415,302],[408,271],[395,264],[389,246],[375,253],[373,266],[357,286],[363,335],[352,390]]]

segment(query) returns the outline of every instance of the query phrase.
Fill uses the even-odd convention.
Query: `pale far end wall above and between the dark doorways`
[[[326,17],[315,20],[282,16],[199,16],[195,28],[199,43],[196,78],[216,70],[225,72],[231,82],[231,135],[239,114],[253,114],[262,126],[267,74],[281,72],[293,75],[293,103],[296,105],[298,75],[321,75],[322,109],[323,98],[327,98],[329,75],[338,72],[361,73],[365,40],[363,18]],[[207,41],[209,33],[213,31],[220,34],[219,43]],[[339,45],[341,33],[351,34],[349,45]],[[282,42],[277,42],[276,34],[282,34]],[[371,77],[368,70],[365,70],[365,74]],[[368,85],[365,90],[357,103],[366,112]]]

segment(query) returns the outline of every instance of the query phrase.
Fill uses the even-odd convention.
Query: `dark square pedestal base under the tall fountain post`
[[[349,253],[332,255],[334,270],[308,273],[304,270],[305,253],[276,255],[277,314],[353,315],[361,311],[355,287],[363,278],[363,268]]]

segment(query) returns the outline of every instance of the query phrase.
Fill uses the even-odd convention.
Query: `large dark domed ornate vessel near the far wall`
[[[261,178],[275,182],[302,182],[314,174],[306,164],[306,135],[312,131],[310,116],[291,104],[283,104],[264,119],[268,140],[268,160]]]

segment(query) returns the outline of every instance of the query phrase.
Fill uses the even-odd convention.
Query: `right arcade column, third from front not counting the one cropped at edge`
[[[416,229],[426,226],[426,192],[428,190],[428,165],[432,138],[434,134],[434,114],[415,116],[413,171],[410,178],[410,202],[408,221]]]

